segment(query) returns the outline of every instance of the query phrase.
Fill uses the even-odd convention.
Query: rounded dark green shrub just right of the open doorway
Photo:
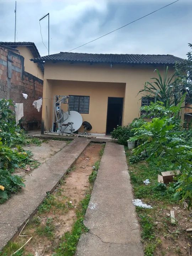
[[[111,138],[117,139],[122,145],[127,145],[127,140],[133,135],[129,126],[118,126],[111,132]]]

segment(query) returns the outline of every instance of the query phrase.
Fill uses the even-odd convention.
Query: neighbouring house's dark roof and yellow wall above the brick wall
[[[40,58],[37,47],[32,42],[0,42],[0,46],[7,46],[17,50],[17,54],[24,57],[24,70],[43,80],[44,67],[42,63],[33,63],[31,58]]]

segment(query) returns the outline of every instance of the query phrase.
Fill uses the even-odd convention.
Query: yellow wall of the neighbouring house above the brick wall
[[[43,73],[41,69],[38,67],[37,63],[34,63],[30,60],[34,58],[33,54],[31,53],[31,50],[26,46],[18,46],[17,50],[19,50],[20,55],[22,55],[25,58],[25,71],[43,80]]]

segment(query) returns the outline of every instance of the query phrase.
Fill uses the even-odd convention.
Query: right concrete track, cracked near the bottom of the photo
[[[143,256],[124,147],[107,142],[75,256]]]

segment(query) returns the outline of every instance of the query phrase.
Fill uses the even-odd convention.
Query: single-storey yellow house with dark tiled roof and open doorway
[[[183,59],[173,55],[60,52],[32,60],[44,64],[44,130],[52,127],[54,95],[69,95],[70,109],[91,123],[92,133],[110,134],[117,125],[127,125],[139,117],[140,106],[150,103],[150,98],[141,101],[138,92],[154,77],[154,69],[162,74],[168,65],[171,74],[174,64]]]

